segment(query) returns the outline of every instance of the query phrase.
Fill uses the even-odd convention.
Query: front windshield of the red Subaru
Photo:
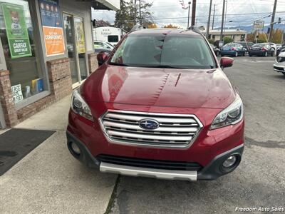
[[[170,34],[131,34],[120,44],[110,63],[137,67],[216,67],[202,37]]]

